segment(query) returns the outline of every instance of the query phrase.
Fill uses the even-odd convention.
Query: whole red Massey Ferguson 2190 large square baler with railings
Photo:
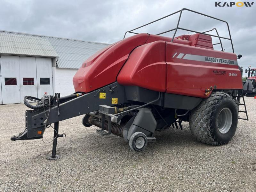
[[[194,12],[182,9],[175,13],[181,17],[183,11]],[[74,94],[25,97],[25,105],[32,108],[26,111],[26,129],[11,140],[40,139],[54,123],[49,158],[57,159],[57,138],[63,137],[58,133],[59,121],[84,114],[84,126],[96,125],[101,128],[97,130],[100,135],[112,133],[124,138],[133,151],[142,151],[148,142],[156,141],[155,131],[170,126],[182,129],[182,121],[189,122],[192,135],[202,143],[228,143],[236,132],[238,112],[246,113],[246,109],[239,110],[239,105],[245,107],[240,104],[242,69],[237,64],[228,23],[219,20],[227,24],[227,38],[219,36],[215,28],[212,30],[217,35],[206,33],[212,30],[180,28],[180,17],[174,29],[152,35],[137,34],[135,28],[128,33],[136,35],[92,55],[73,78]],[[178,29],[195,34],[175,37]],[[174,31],[172,38],[160,36],[170,31]],[[219,38],[220,51],[213,49],[212,36]],[[223,51],[221,39],[230,40],[233,53]]]

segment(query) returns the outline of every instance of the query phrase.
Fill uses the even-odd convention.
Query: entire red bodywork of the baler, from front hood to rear
[[[236,54],[214,51],[210,36],[183,35],[171,40],[138,34],[101,50],[77,71],[75,91],[91,92],[116,80],[121,85],[201,98],[209,96],[205,89],[211,86],[242,89]]]

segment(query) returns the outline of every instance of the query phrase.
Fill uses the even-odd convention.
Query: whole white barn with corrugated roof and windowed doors
[[[0,55],[3,55],[0,58],[0,104],[23,102],[24,95],[41,98],[44,92],[53,95],[60,92],[61,96],[74,93],[72,80],[78,68],[95,52],[109,45],[3,30],[0,30],[0,39]],[[10,67],[9,63],[13,62],[16,66]],[[17,83],[5,85],[4,78],[16,78]],[[26,79],[32,81],[30,78],[34,78],[34,84],[26,83]],[[44,78],[42,83],[41,78]],[[10,95],[15,96],[15,100]]]

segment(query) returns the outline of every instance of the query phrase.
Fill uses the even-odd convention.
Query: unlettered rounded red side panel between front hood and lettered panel
[[[137,47],[121,69],[117,82],[154,91],[166,91],[165,41]]]

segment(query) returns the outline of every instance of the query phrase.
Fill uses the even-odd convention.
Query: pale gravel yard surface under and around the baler
[[[227,145],[197,142],[184,122],[134,153],[122,138],[83,127],[79,116],[60,122],[67,137],[54,161],[46,158],[52,143],[10,140],[24,130],[26,107],[1,105],[0,191],[256,191],[256,99],[245,100],[250,120],[239,120]],[[52,135],[49,128],[45,141]]]

